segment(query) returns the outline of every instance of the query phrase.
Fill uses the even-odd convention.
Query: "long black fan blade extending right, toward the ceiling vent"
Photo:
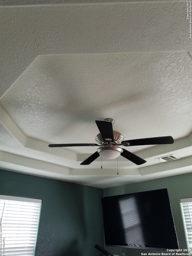
[[[141,146],[141,145],[158,145],[158,144],[172,144],[174,142],[173,137],[154,137],[146,139],[136,139],[136,140],[124,140],[122,141],[122,146]],[[128,144],[130,143],[130,144]]]

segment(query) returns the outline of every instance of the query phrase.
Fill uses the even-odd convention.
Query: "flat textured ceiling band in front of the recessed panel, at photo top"
[[[0,95],[38,54],[190,51],[185,9],[182,2],[0,8]]]

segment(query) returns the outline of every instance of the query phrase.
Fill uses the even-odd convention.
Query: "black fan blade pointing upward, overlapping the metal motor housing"
[[[110,141],[114,140],[113,136],[113,125],[109,121],[97,121],[95,120],[96,125],[101,133],[101,136],[104,140],[109,139]]]

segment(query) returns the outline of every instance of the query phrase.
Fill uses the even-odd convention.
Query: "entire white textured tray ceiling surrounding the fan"
[[[0,168],[107,188],[192,172],[192,39],[186,1],[0,3]],[[95,120],[147,162],[80,163],[98,147]],[[122,148],[125,148],[122,146]],[[174,154],[180,159],[159,162]]]

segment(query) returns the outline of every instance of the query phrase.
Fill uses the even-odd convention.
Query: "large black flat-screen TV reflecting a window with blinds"
[[[178,249],[167,188],[102,198],[105,244]]]

